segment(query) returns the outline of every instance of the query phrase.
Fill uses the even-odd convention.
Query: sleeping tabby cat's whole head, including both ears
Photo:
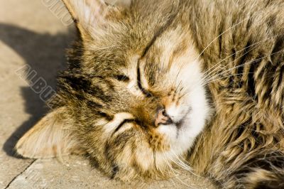
[[[87,153],[109,175],[167,175],[209,117],[202,63],[178,1],[66,0],[80,40],[58,106],[16,146],[25,157]]]

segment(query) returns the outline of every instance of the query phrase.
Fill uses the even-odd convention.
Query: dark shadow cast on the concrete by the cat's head
[[[35,70],[37,73],[36,77],[43,77],[53,89],[56,86],[58,71],[65,68],[65,48],[74,38],[74,36],[68,33],[55,35],[35,33],[25,28],[0,23],[0,41],[3,41],[18,53],[31,70]],[[19,65],[19,68],[21,67],[22,65]],[[27,80],[26,82],[30,81]],[[40,99],[38,94],[33,92],[31,87],[22,87],[21,94],[26,101],[26,112],[31,114],[31,118],[21,124],[21,126],[18,126],[18,129],[9,137],[3,147],[9,156],[15,157],[16,154],[13,148],[18,139],[48,111],[45,102]]]

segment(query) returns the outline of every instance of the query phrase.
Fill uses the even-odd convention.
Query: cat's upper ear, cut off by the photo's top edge
[[[131,0],[62,0],[84,36],[107,24],[109,13],[129,9]]]

